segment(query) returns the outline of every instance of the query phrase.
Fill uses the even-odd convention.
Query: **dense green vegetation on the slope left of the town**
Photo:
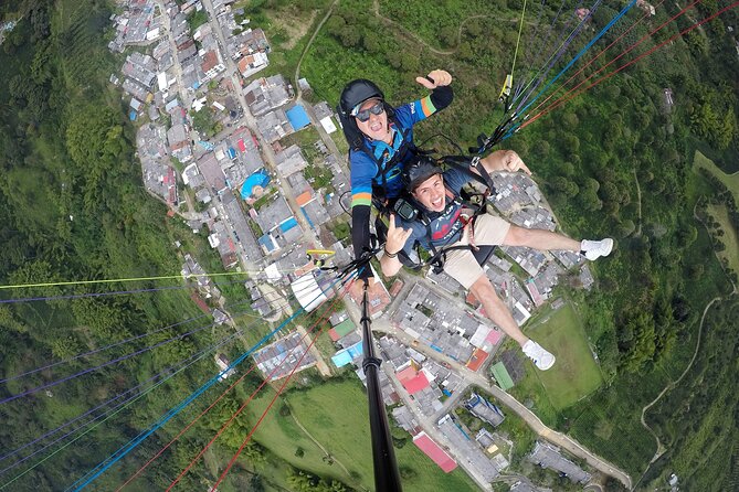
[[[105,47],[110,13],[108,2],[98,0],[24,0],[0,6],[0,14],[22,17],[0,49],[2,285],[177,275],[181,256],[173,246],[175,240],[179,239],[183,249],[202,247],[202,239],[193,238],[179,222],[167,220],[166,208],[144,190],[140,165],[134,157],[135,129],[125,118],[126,108],[118,89],[107,83],[110,73],[117,73],[123,63]],[[199,258],[209,270],[213,270],[212,266],[219,268],[220,261],[210,248],[200,253]],[[161,287],[161,284],[3,290],[1,296],[3,300],[11,300],[155,287]],[[243,304],[243,288],[234,290],[234,286],[226,281],[222,290],[239,292],[239,297],[230,298],[234,314],[247,310]],[[197,321],[189,324],[159,330],[197,315]],[[253,318],[247,320],[253,324]],[[138,341],[134,350],[139,350],[165,342],[175,333],[208,327],[211,322],[210,317],[203,317],[197,310],[187,290],[3,303],[0,304],[0,374],[12,377],[159,330]],[[194,323],[198,324],[193,327]],[[71,479],[80,478],[103,457],[156,421],[173,403],[212,377],[215,370],[212,352],[190,361],[187,371],[177,371],[178,364],[232,333],[228,327],[208,328],[197,335],[175,340],[51,387],[49,392],[2,404],[0,449],[4,454],[109,398],[125,394],[137,384],[144,384],[133,405],[120,408],[110,419],[99,421],[73,446],[52,454],[42,467],[25,472],[44,453],[4,472],[2,483],[7,484],[23,473],[10,485],[12,490],[64,489]],[[234,343],[221,347],[230,357],[239,350]],[[116,346],[3,383],[0,397],[4,399],[31,391],[131,352],[130,344]],[[156,376],[159,373],[161,375]],[[167,376],[171,378],[152,386]],[[213,409],[214,414],[203,418],[191,434],[180,439],[173,452],[165,453],[156,472],[139,479],[138,485],[163,489],[169,484],[204,445],[198,436],[220,427],[224,420],[222,415],[230,413],[244,394],[249,395],[260,383],[258,377],[247,378],[239,387],[237,395],[224,398]],[[93,416],[101,415],[103,409]],[[190,417],[194,415],[189,414]],[[83,419],[65,431],[85,421]],[[237,431],[236,427],[232,432],[241,442]],[[123,483],[175,432],[175,429],[165,429],[155,435],[137,450],[140,454],[131,454],[124,460],[123,467],[114,467],[104,474],[101,485],[112,490]],[[236,439],[228,438],[229,432],[226,443],[218,448],[211,462],[224,462],[233,453]],[[60,447],[61,443],[52,446],[45,453]],[[2,469],[34,449],[29,448],[3,460]],[[264,490],[266,482],[249,473],[247,469],[253,470],[256,466],[249,463],[258,463],[266,458],[256,446],[247,449],[246,454],[249,458],[237,463],[242,472],[224,482],[225,490]],[[190,473],[182,485],[188,490],[200,486],[202,474],[202,470],[198,474]]]

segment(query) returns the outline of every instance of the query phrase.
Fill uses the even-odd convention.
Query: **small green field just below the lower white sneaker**
[[[588,346],[580,318],[571,304],[555,311],[529,334],[557,356],[549,371],[531,367],[513,394],[541,393],[535,397],[545,415],[562,410],[598,389],[603,383],[598,364]],[[547,407],[551,405],[551,409]]]

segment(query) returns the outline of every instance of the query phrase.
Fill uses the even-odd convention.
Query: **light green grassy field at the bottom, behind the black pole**
[[[273,396],[273,391],[261,392],[260,397],[246,407],[250,423],[258,419]],[[288,403],[292,414],[306,430],[328,450],[335,460],[332,464],[324,461],[323,451],[297,426],[293,415],[283,416],[277,411],[284,402]],[[368,418],[367,395],[358,381],[329,381],[307,391],[292,392],[275,403],[256,431],[255,439],[297,468],[336,478],[350,486],[372,490]],[[477,490],[461,469],[444,473],[413,446],[410,436],[405,437],[405,445],[395,449],[398,466],[408,477],[403,479],[404,490]],[[295,456],[298,447],[305,451],[302,458]]]

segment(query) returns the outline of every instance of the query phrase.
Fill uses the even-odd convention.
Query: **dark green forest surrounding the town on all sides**
[[[245,15],[266,22],[270,12],[300,15],[316,10],[317,18],[323,18],[331,2],[240,3]],[[466,148],[478,133],[492,132],[503,117],[496,100],[510,68],[522,0],[496,2],[494,11],[483,0],[374,3],[377,14],[367,1],[342,0],[332,7],[302,65],[302,76],[314,87],[313,97],[334,106],[346,82],[366,76],[386,90],[391,103],[400,104],[423,94],[413,82],[415,76],[445,68],[455,77],[455,101],[433,122],[420,126],[416,140],[431,138],[426,147],[450,152],[453,149],[435,133]],[[621,63],[727,6],[729,2],[718,0],[698,2],[689,15],[678,17],[647,36],[644,45]],[[521,36],[516,68],[520,78],[532,77],[547,60],[546,52],[551,50],[543,42],[548,24],[538,30],[535,28],[541,22],[535,21],[551,20],[558,8],[559,3],[529,4],[534,11]],[[621,8],[619,2],[600,6],[589,30],[576,39],[567,56],[571,58]],[[109,74],[120,66],[120,60],[105,46],[113,9],[104,0],[11,0],[0,4],[1,15],[20,13],[22,19],[0,46],[2,285],[179,271],[181,253],[173,244],[189,237],[188,231],[169,221],[163,205],[146,194],[134,156],[135,128],[126,118],[118,89],[107,83]],[[654,18],[626,32],[624,25],[633,24],[643,13],[633,9],[624,18],[627,22],[614,25],[592,50],[614,42],[620,53],[680,9],[675,3],[659,3]],[[593,267],[598,288],[589,295],[570,293],[579,301],[608,384],[547,424],[626,469],[635,482],[641,479],[638,486],[644,489],[664,483],[672,472],[680,475],[686,490],[737,486],[736,479],[731,482],[739,466],[735,445],[739,334],[732,286],[737,272],[716,259],[721,243],[704,226],[705,222],[709,227],[712,224],[706,216],[706,204],[720,203],[730,212],[736,232],[737,204],[730,190],[693,169],[695,151],[700,150],[724,171],[739,171],[737,20],[737,11],[728,10],[503,142],[535,171],[564,232],[573,236],[613,235],[617,240],[612,258]],[[277,60],[284,56],[281,67],[286,76],[294,73],[307,38],[309,34],[292,51],[275,55]],[[593,55],[589,52],[585,60]],[[612,57],[595,61],[573,84]],[[674,94],[672,107],[665,106],[665,88]],[[704,222],[696,220],[694,212]],[[113,292],[126,287],[110,285],[105,289]],[[98,286],[3,290],[0,300],[101,290]],[[246,312],[243,306],[233,311]],[[3,302],[1,375],[21,374],[40,362],[74,357],[196,315],[197,307],[180,290]],[[161,333],[155,336],[167,338]],[[70,477],[76,480],[97,464],[99,457],[135,437],[212,373],[210,357],[196,357],[218,336],[204,330],[142,357],[105,367],[92,377],[50,388],[51,397],[40,393],[0,406],[0,449],[14,449],[50,426],[125,391],[130,382],[157,377],[162,368],[175,373],[180,361],[192,357],[187,372],[142,393],[141,403],[124,409],[115,426],[101,425],[94,436],[83,436],[73,448],[52,456],[43,468],[28,471],[12,490],[66,486]],[[236,345],[234,342],[223,350],[239,353]],[[123,356],[125,351],[114,349],[92,362],[103,363],[108,355]],[[688,364],[692,368],[684,373]],[[82,362],[72,362],[63,371],[3,381],[0,397],[11,398],[85,367]],[[247,381],[237,396],[222,400],[199,426],[220,427],[223,416],[258,384],[258,377]],[[645,413],[646,423],[667,449],[647,466],[658,450],[654,437],[640,423],[642,409],[669,385],[672,391]],[[234,428],[226,442],[214,448],[214,462],[222,462],[237,447],[237,432]],[[158,434],[156,442],[124,460],[122,469],[104,474],[99,486],[119,485],[173,434],[166,429]],[[167,486],[204,443],[199,435],[193,431],[190,436],[194,437],[162,457],[157,472],[142,478],[139,486]],[[281,483],[286,480],[294,490],[347,489],[331,478],[277,464],[258,443],[245,453],[247,459],[239,462],[240,472],[224,483],[224,490],[272,490],[270,468],[281,472],[289,469],[289,478]],[[186,475],[183,490],[203,486],[201,477],[209,473],[207,467]],[[4,474],[1,483],[22,470]]]

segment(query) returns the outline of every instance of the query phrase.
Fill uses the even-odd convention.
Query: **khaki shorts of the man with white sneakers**
[[[509,222],[496,215],[483,214],[475,218],[473,239],[477,246],[499,246],[508,235],[509,229]],[[467,244],[469,244],[469,236],[465,233],[461,240],[451,246]],[[475,255],[469,249],[453,249],[446,253],[444,272],[462,284],[465,289],[469,289],[479,277],[485,275],[485,270],[477,264]]]

